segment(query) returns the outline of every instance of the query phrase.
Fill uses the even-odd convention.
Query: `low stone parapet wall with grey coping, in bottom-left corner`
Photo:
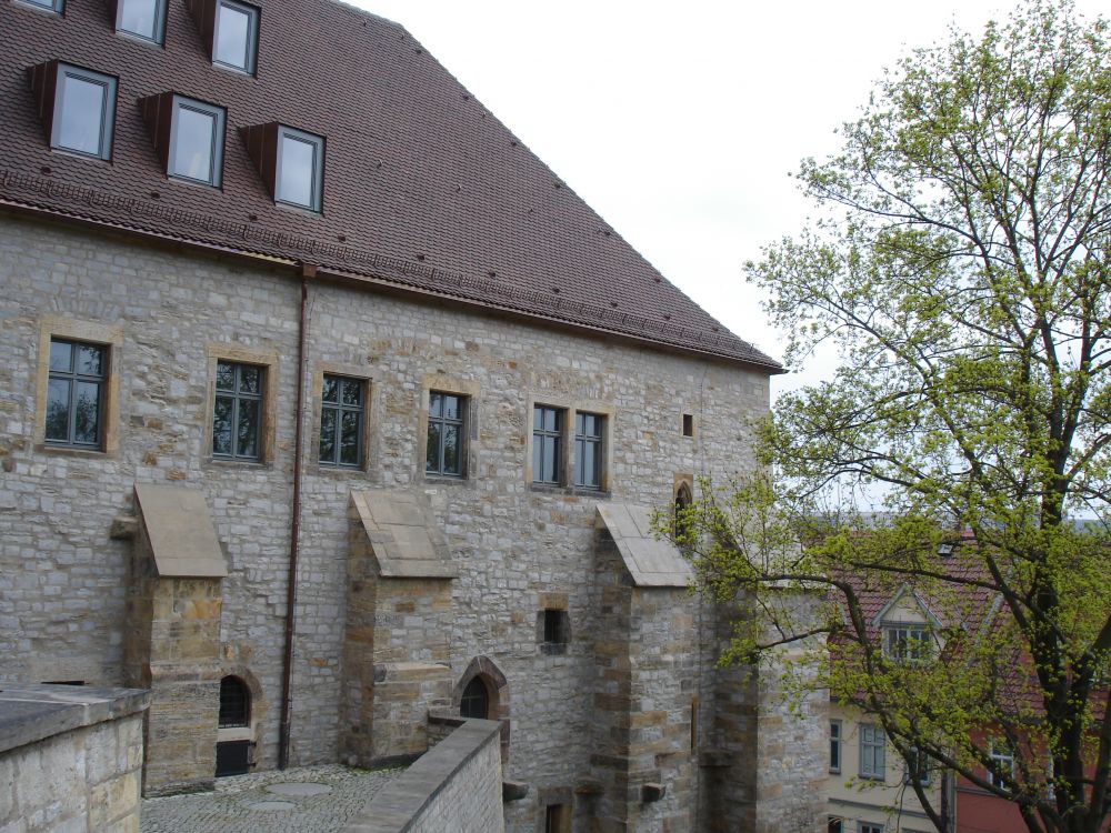
[[[138,833],[148,702],[134,689],[0,690],[0,831]]]

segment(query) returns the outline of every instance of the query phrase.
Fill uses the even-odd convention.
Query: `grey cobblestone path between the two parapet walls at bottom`
[[[332,764],[219,779],[214,792],[144,799],[140,831],[334,833],[402,772]]]

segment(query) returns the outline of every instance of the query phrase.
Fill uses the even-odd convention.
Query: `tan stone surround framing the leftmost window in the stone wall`
[[[102,434],[99,449],[53,445],[46,441],[47,393],[50,385],[50,340],[83,341],[108,348],[104,370]],[[34,449],[51,454],[116,456],[120,449],[120,357],[123,348],[122,324],[99,324],[60,315],[43,315],[39,320],[39,355],[34,385]]]

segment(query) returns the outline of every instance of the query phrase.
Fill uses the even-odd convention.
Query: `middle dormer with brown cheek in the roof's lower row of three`
[[[224,109],[174,92],[141,99],[139,107],[166,174],[219,188],[223,170]]]

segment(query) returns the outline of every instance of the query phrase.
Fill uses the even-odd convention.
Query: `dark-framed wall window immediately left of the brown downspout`
[[[218,361],[212,413],[212,455],[229,460],[262,459],[262,387],[266,369]]]

